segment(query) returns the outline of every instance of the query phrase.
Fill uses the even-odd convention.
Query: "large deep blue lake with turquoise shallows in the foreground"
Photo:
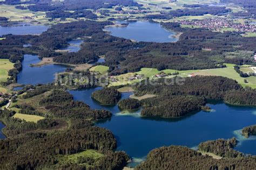
[[[213,112],[200,111],[183,118],[142,118],[139,111],[122,113],[117,105],[100,105],[91,99],[91,93],[99,89],[69,92],[75,100],[113,113],[112,118],[99,121],[97,125],[112,131],[118,140],[117,149],[127,152],[134,159],[135,165],[145,159],[152,149],[160,146],[183,145],[192,148],[200,142],[219,138],[236,137],[239,145],[235,149],[256,155],[256,137],[246,139],[239,131],[256,124],[256,108],[218,103],[208,104]],[[123,93],[123,98],[128,98],[130,94]]]

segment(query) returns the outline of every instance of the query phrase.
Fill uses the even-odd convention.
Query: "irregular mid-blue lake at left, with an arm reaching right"
[[[18,73],[18,84],[46,84],[55,80],[55,73],[65,71],[63,65],[45,65],[41,67],[31,67],[30,64],[39,63],[40,59],[34,55],[24,55],[22,71]]]

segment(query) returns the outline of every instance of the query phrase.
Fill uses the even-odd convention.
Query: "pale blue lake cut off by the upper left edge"
[[[48,26],[43,25],[21,25],[21,26],[0,26],[0,36],[11,33],[12,35],[33,35],[46,31]]]

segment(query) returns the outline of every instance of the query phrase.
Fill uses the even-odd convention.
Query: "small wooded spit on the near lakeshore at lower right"
[[[237,146],[238,141],[232,139],[217,139],[206,142],[201,142],[198,146],[199,151],[214,153],[223,158],[238,158],[244,155],[241,152],[235,151],[233,148]]]

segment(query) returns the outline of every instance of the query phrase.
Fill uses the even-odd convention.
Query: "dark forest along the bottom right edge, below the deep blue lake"
[[[183,146],[153,149],[135,169],[254,169],[256,157],[213,159]]]

